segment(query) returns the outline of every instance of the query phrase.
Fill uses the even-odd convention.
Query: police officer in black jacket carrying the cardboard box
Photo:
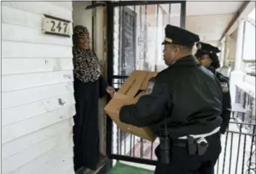
[[[160,138],[157,174],[212,173],[220,154],[222,94],[218,79],[191,54],[199,36],[165,28],[168,68],[149,82],[148,95],[120,108],[123,123],[151,126]]]

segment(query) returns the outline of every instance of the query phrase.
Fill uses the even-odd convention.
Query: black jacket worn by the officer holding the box
[[[120,109],[123,123],[151,126],[159,136],[166,114],[173,138],[209,133],[222,123],[220,83],[193,56],[178,59],[149,84],[149,95]]]

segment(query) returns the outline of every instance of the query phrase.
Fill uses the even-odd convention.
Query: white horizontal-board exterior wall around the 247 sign
[[[3,174],[74,173],[72,38],[44,34],[43,14],[72,21],[72,3],[1,3]]]

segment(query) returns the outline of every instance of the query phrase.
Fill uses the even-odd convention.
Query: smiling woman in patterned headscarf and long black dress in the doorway
[[[99,160],[99,98],[107,93],[110,96],[115,94],[115,89],[102,78],[102,67],[89,44],[88,29],[76,25],[73,29],[75,171],[80,168],[96,170]]]

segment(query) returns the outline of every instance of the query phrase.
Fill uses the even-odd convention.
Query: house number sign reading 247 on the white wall
[[[42,24],[43,32],[46,34],[70,37],[71,22],[69,20],[44,14]]]

